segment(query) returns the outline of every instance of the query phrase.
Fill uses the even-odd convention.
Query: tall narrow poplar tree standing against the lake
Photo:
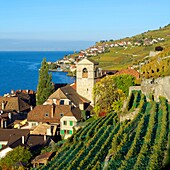
[[[53,85],[52,85],[52,74],[48,73],[48,63],[44,58],[41,63],[41,68],[39,71],[39,80],[37,86],[37,105],[43,104],[49,95],[53,92]]]

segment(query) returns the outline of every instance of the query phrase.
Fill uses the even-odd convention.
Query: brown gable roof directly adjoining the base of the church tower
[[[61,87],[55,91],[48,99],[69,99],[75,106],[79,106],[82,103],[90,103],[89,100],[80,96],[76,90],[70,85]]]

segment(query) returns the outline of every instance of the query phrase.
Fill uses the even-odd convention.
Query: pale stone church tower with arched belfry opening
[[[77,63],[76,91],[81,96],[93,101],[93,87],[95,79],[99,76],[98,62],[84,58]]]

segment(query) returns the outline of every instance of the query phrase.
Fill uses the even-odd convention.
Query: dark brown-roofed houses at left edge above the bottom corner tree
[[[35,151],[49,146],[53,141],[46,135],[32,135],[26,129],[0,129],[0,159],[17,146],[28,147]]]

